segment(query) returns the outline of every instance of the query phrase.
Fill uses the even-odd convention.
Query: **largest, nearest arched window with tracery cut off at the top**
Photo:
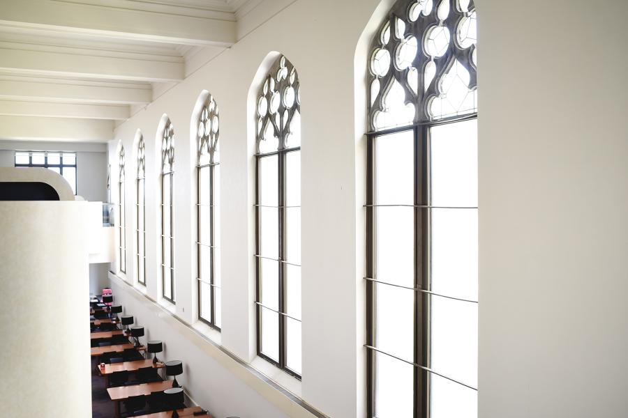
[[[399,0],[368,61],[368,416],[477,417],[473,0]]]

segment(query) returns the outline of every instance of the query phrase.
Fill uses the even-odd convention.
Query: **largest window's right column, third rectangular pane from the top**
[[[431,297],[431,368],[477,387],[477,304]]]

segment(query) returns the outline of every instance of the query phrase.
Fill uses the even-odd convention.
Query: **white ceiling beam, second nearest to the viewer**
[[[1,3],[1,2],[0,2]],[[140,82],[179,82],[185,76],[182,59],[133,54],[94,54],[83,48],[56,47],[51,50],[17,49],[0,42],[0,70],[27,75],[117,79]]]

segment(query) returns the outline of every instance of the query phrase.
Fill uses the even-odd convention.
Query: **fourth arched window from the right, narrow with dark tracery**
[[[161,138],[161,279],[162,296],[174,303],[174,128],[168,119]]]

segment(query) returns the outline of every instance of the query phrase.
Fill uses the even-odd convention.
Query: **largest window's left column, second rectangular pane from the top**
[[[376,278],[414,286],[414,208],[375,210]]]

